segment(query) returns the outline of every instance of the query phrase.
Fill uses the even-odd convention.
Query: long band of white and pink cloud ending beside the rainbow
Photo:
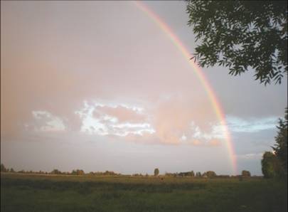
[[[127,103],[87,102],[75,113],[82,119],[81,132],[108,137],[122,137],[127,141],[203,145],[215,147],[225,139],[225,132],[212,125],[203,131],[191,122],[193,112],[182,102],[173,99],[159,103],[154,110]],[[222,130],[222,131],[221,131]],[[191,142],[190,142],[191,141]]]

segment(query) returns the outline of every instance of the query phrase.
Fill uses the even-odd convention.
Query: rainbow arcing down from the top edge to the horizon
[[[169,28],[169,26],[163,20],[161,20],[161,18],[157,16],[157,14],[155,14],[154,11],[151,11],[151,9],[149,9],[148,6],[143,4],[142,1],[132,1],[132,2],[137,6],[137,8],[139,8],[147,16],[149,16],[149,18],[151,18],[151,20],[154,21],[154,23],[156,23],[156,25],[159,26],[159,28],[161,28],[162,31],[164,31],[166,36],[169,37],[169,39],[171,40],[172,43],[174,43],[176,48],[178,48],[178,50],[181,51],[182,55],[184,56],[184,58],[186,58],[189,65],[191,65],[198,80],[201,81],[201,84],[203,85],[203,88],[206,90],[209,100],[213,106],[213,110],[215,111],[215,114],[218,117],[218,120],[220,120],[220,124],[224,126],[225,136],[226,136],[226,147],[227,147],[228,154],[230,157],[231,166],[233,168],[233,174],[236,174],[237,163],[236,163],[233,142],[231,140],[230,132],[227,127],[227,122],[225,120],[223,109],[220,105],[220,102],[218,101],[217,96],[215,95],[215,92],[213,92],[213,89],[211,88],[211,85],[208,79],[204,75],[201,68],[199,68],[198,65],[196,65],[196,63],[194,63],[193,60],[190,59],[191,54],[188,52],[187,48],[183,45],[183,43],[176,36],[176,34],[171,30],[171,28]]]

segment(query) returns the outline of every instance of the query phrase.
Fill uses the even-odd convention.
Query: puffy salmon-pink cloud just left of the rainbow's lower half
[[[211,139],[214,135],[210,134],[211,127],[207,120],[215,122],[217,118],[213,111],[205,110],[207,105],[197,105],[181,95],[162,99],[152,113],[157,136],[161,142],[169,144],[181,143],[183,134],[188,140]]]

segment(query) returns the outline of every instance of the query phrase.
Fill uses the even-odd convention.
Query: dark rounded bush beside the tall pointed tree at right
[[[265,178],[274,178],[283,175],[282,164],[272,152],[265,152],[263,154],[261,164],[262,173]]]

